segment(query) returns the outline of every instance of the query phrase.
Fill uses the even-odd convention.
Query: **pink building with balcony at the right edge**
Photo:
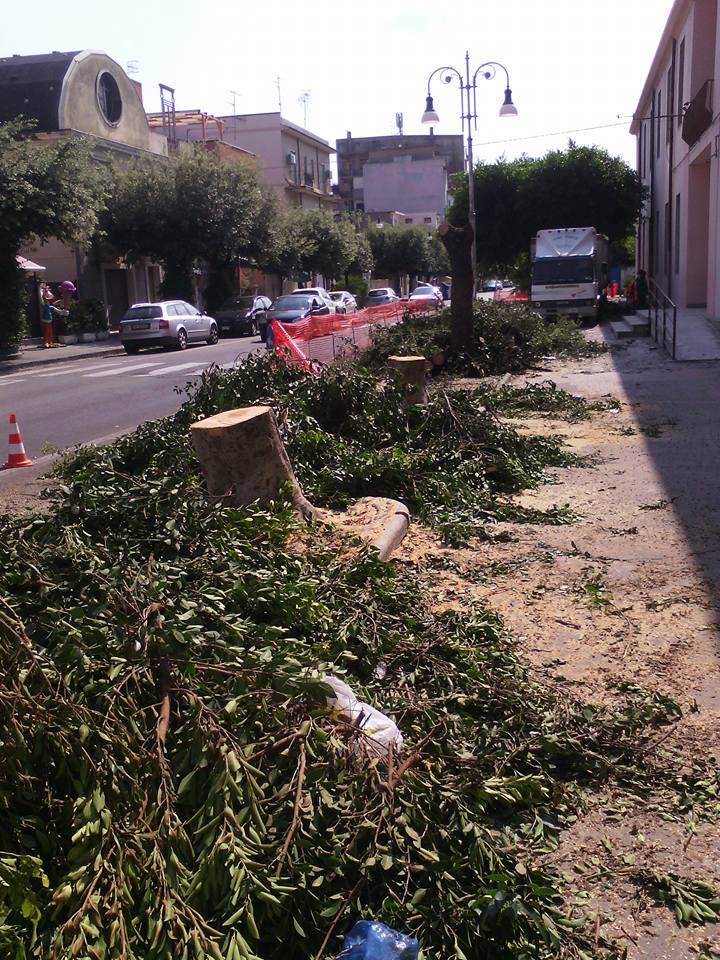
[[[676,0],[631,132],[646,200],[637,265],[681,309],[720,318],[717,0]]]

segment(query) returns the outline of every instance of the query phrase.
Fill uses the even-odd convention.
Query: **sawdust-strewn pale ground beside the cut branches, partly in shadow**
[[[550,361],[510,382],[548,379],[587,399],[620,401],[617,412],[588,421],[513,421],[561,435],[591,458],[518,498],[568,504],[577,522],[504,524],[498,532],[509,542],[460,550],[416,526],[398,559],[433,557],[429,588],[439,605],[479,601],[500,613],[533,672],[570,696],[609,703],[624,682],[671,696],[683,714],[667,746],[680,747],[688,764],[716,755],[720,365],[673,364],[643,340],[592,360]],[[720,888],[720,827],[700,810],[697,820],[668,822],[662,809],[615,796],[589,801],[550,859],[566,873],[568,900],[597,913],[600,944],[629,958],[720,956],[718,925],[678,926],[623,876],[628,862],[642,863]]]

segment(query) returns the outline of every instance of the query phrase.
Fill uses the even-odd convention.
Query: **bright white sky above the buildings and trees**
[[[216,115],[278,109],[331,144],[353,136],[427,133],[420,123],[429,74],[507,68],[514,118],[499,118],[504,73],[478,78],[476,159],[492,162],[598,144],[635,163],[628,128],[672,0],[33,0],[32,18],[8,0],[0,56],[85,48],[105,51],[178,109]],[[234,91],[234,92],[233,92]],[[435,78],[436,133],[460,133],[457,81]],[[309,94],[305,104],[300,98]],[[307,110],[307,123],[304,123]],[[583,130],[597,127],[599,129]],[[567,132],[575,131],[575,132]],[[552,134],[552,136],[550,135]]]

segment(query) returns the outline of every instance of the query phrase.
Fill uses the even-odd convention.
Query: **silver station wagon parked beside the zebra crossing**
[[[218,342],[217,322],[184,300],[134,303],[120,321],[120,342],[126,353],[137,353],[141,347],[184,350],[188,343],[200,340]]]

